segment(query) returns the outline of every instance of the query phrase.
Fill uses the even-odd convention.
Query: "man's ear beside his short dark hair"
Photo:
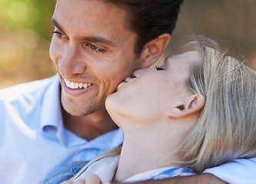
[[[170,39],[171,35],[165,33],[145,44],[140,56],[141,68],[150,67],[155,61],[158,61]]]

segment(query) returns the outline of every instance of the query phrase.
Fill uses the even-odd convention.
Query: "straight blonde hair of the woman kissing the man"
[[[204,95],[206,102],[183,145],[185,166],[200,173],[256,156],[255,71],[215,46],[191,44],[201,61],[191,66],[186,84],[194,94]]]

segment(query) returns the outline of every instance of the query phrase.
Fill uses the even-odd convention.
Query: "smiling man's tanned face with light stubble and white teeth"
[[[117,85],[140,68],[126,12],[100,0],[58,0],[50,56],[62,85],[62,105],[74,116],[105,107]]]

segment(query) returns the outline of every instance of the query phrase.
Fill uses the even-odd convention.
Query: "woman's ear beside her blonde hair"
[[[173,118],[187,117],[193,113],[198,113],[204,108],[205,97],[201,94],[193,94],[187,102],[179,102],[171,107],[166,115]]]

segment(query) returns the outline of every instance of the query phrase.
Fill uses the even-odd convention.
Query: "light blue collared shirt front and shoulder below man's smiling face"
[[[65,130],[58,76],[0,90],[0,183],[39,183],[66,163],[120,146],[120,129],[86,141]]]

